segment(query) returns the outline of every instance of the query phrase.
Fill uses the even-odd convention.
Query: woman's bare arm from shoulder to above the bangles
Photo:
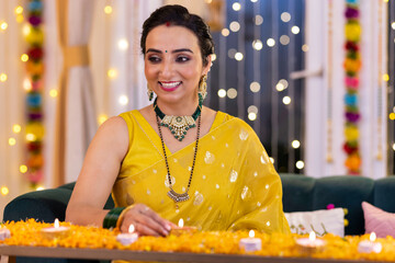
[[[103,210],[128,148],[127,125],[109,118],[93,137],[66,210],[66,220],[102,226]]]

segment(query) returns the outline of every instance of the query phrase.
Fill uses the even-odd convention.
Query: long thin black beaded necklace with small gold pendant
[[[182,194],[177,193],[177,192],[172,188],[172,185],[171,185],[171,175],[170,175],[170,169],[169,169],[169,162],[168,162],[168,158],[167,158],[167,155],[166,155],[163,136],[162,136],[161,129],[160,129],[160,126],[161,126],[161,125],[160,125],[160,123],[159,123],[158,113],[157,113],[157,115],[156,115],[156,118],[157,118],[157,124],[158,124],[159,137],[160,137],[160,141],[161,141],[162,149],[163,149],[166,169],[167,169],[167,172],[168,172],[167,176],[168,176],[168,182],[169,182],[169,188],[170,188],[170,191],[169,191],[167,194],[168,194],[168,196],[169,196],[171,199],[173,199],[176,203],[188,201],[188,199],[190,198],[190,196],[189,196],[189,194],[188,194],[188,191],[190,190],[190,186],[191,186],[192,176],[193,176],[193,170],[194,170],[194,165],[195,165],[195,161],[196,161],[198,146],[199,146],[199,136],[200,136],[200,126],[201,126],[201,118],[202,118],[202,116],[199,114],[199,117],[198,117],[196,142],[195,142],[195,149],[194,149],[194,153],[193,153],[191,175],[190,175],[189,181],[188,181],[187,190],[185,190],[185,192],[182,193]]]

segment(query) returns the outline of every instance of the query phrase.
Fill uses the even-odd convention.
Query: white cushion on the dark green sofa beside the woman
[[[345,237],[345,210],[342,208],[284,214],[293,233],[304,235],[315,231],[318,237],[325,233]]]

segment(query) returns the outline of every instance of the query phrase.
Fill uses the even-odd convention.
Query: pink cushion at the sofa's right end
[[[366,233],[375,232],[377,238],[395,238],[395,214],[382,210],[368,202],[362,202],[362,209]]]

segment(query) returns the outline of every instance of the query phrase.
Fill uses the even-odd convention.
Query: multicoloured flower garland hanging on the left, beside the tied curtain
[[[27,56],[26,72],[29,90],[26,95],[26,140],[27,140],[27,176],[32,187],[43,179],[43,42],[42,26],[43,2],[31,0],[27,5],[29,33],[26,35]]]

